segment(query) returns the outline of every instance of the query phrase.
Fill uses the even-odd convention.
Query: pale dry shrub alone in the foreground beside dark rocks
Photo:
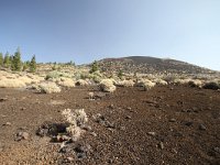
[[[84,109],[65,109],[62,114],[69,124],[66,128],[67,133],[75,140],[79,139],[82,131],[80,127],[88,122],[88,118]]]

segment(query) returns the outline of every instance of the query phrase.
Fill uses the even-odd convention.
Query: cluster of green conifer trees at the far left
[[[0,53],[0,67],[9,68],[14,72],[29,70],[31,73],[34,73],[36,70],[35,55],[32,56],[31,62],[22,62],[20,48],[18,48],[13,55],[10,55],[7,52],[3,56],[3,54]]]

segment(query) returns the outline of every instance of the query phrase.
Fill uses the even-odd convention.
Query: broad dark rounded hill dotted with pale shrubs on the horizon
[[[217,72],[175,59],[155,58],[150,56],[129,56],[105,58],[98,62],[101,70],[142,74],[216,74]]]

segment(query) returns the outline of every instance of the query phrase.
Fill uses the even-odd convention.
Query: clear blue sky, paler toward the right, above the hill
[[[0,0],[0,52],[77,64],[146,55],[220,70],[220,0]]]

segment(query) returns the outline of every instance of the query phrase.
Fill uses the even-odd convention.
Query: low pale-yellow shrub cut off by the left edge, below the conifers
[[[0,88],[23,88],[25,86],[25,82],[19,79],[2,78],[0,80]]]

